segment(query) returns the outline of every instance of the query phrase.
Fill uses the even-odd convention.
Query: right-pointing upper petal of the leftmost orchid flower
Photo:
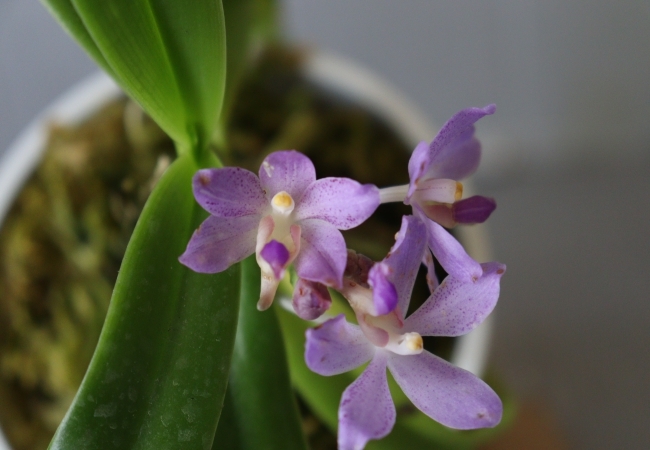
[[[349,178],[322,178],[311,184],[296,205],[296,220],[321,219],[340,230],[362,224],[379,206],[379,189]]]

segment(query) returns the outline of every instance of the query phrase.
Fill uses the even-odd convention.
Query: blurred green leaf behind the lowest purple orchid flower
[[[336,432],[341,395],[358,376],[358,371],[323,377],[309,370],[304,359],[305,332],[312,324],[280,308],[277,310],[285,337],[293,383],[314,414],[328,428]],[[404,395],[401,392],[394,392],[399,388],[396,387],[392,377],[389,377],[389,384],[393,398],[396,400],[397,421],[393,431],[387,437],[368,443],[366,448],[369,450],[470,449],[499,433],[512,419],[512,401],[507,397],[504,399],[502,395],[504,418],[499,427],[473,431],[451,430],[434,422],[408,403],[405,404]]]

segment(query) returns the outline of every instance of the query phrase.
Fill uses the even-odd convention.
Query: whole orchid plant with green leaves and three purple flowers
[[[342,450],[430,448],[444,434],[431,430],[499,423],[492,388],[423,341],[470,332],[499,296],[505,266],[475,261],[446,229],[496,207],[463,199],[458,181],[478,167],[474,124],[494,105],[460,111],[420,143],[404,186],[317,179],[299,149],[270,153],[257,174],[223,167],[238,80],[276,36],[271,0],[43,2],[177,149],[50,448],[304,449],[294,387]],[[389,202],[412,215],[388,255],[348,249],[340,230]],[[421,266],[430,296],[409,314]],[[271,308],[278,297],[290,311]],[[407,402],[416,422],[399,419]]]

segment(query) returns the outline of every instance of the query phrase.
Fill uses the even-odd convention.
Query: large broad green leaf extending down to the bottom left
[[[239,266],[178,262],[206,213],[185,155],[165,172],[126,251],[100,340],[52,449],[209,449],[236,335]]]

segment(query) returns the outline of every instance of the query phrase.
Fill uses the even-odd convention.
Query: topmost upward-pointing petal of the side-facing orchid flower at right
[[[416,147],[409,161],[409,198],[422,177],[460,180],[474,173],[481,158],[474,123],[495,110],[494,105],[463,109],[443,125],[427,149]]]

